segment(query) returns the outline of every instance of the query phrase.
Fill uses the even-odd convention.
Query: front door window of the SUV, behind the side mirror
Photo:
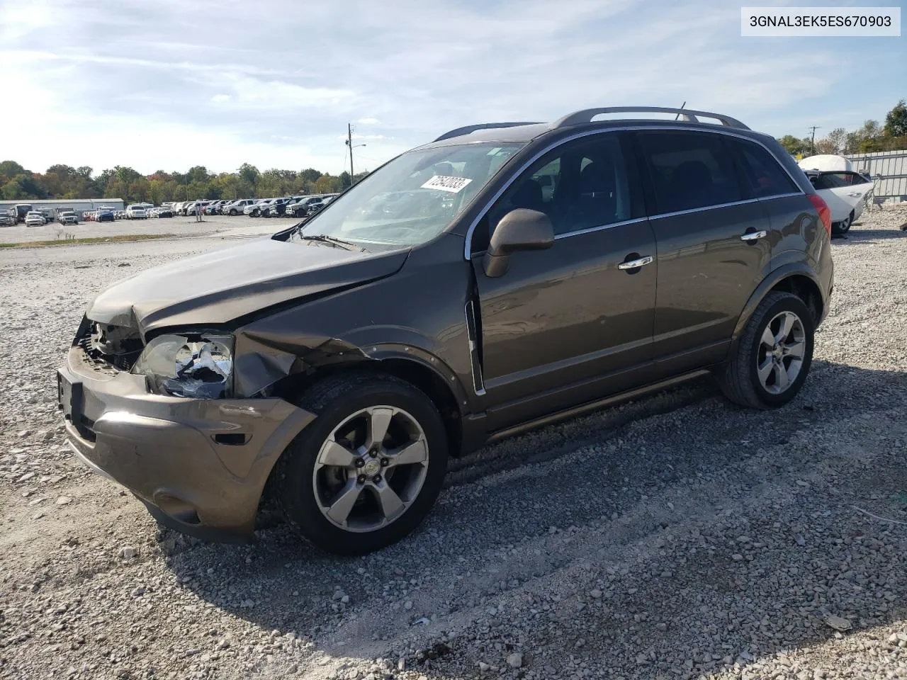
[[[556,235],[631,218],[627,166],[616,134],[568,142],[535,161],[503,193],[473,233],[473,252],[488,248],[502,217],[524,208],[545,213]]]

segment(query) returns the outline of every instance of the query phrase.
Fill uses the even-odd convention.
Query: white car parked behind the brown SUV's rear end
[[[799,165],[832,211],[832,233],[846,234],[863,214],[873,180],[854,171],[843,156],[812,156],[800,160]]]

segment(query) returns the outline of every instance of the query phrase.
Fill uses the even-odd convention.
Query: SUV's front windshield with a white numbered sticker
[[[414,246],[456,218],[522,142],[409,151],[375,170],[290,240],[328,236],[356,245]],[[326,204],[328,197],[323,200]]]

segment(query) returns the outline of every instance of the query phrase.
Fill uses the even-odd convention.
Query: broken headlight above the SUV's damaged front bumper
[[[193,399],[229,397],[233,385],[233,336],[158,335],[132,366],[152,392]]]

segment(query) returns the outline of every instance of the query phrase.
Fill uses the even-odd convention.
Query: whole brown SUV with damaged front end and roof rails
[[[638,111],[680,120],[593,121]],[[61,409],[168,526],[249,538],[273,498],[323,549],[379,549],[486,442],[706,371],[736,403],[793,399],[829,230],[803,170],[727,116],[474,125],[304,226],[102,292]]]

